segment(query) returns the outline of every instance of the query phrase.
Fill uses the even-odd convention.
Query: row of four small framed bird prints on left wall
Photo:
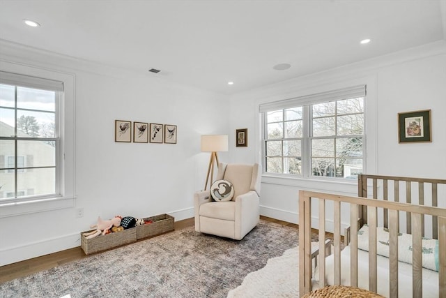
[[[176,144],[176,125],[148,124],[137,121],[114,121],[114,141],[134,143]]]

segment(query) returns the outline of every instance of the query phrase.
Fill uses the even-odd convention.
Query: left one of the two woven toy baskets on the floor
[[[100,234],[91,239],[86,239],[83,233],[81,232],[81,248],[86,255],[137,241],[137,229],[135,228],[105,235]]]

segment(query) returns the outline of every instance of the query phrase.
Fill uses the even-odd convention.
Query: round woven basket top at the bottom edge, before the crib
[[[357,297],[357,298],[381,298],[383,296],[378,295],[368,290],[348,287],[346,285],[328,285],[324,288],[314,290],[307,293],[302,298],[319,298],[319,297]]]

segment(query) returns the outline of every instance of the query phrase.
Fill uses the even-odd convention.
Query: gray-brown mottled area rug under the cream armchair
[[[226,297],[249,272],[298,246],[261,221],[241,241],[185,228],[0,284],[1,297]]]

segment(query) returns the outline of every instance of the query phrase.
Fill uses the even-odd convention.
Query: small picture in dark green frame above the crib
[[[432,142],[431,110],[398,113],[400,143]]]

